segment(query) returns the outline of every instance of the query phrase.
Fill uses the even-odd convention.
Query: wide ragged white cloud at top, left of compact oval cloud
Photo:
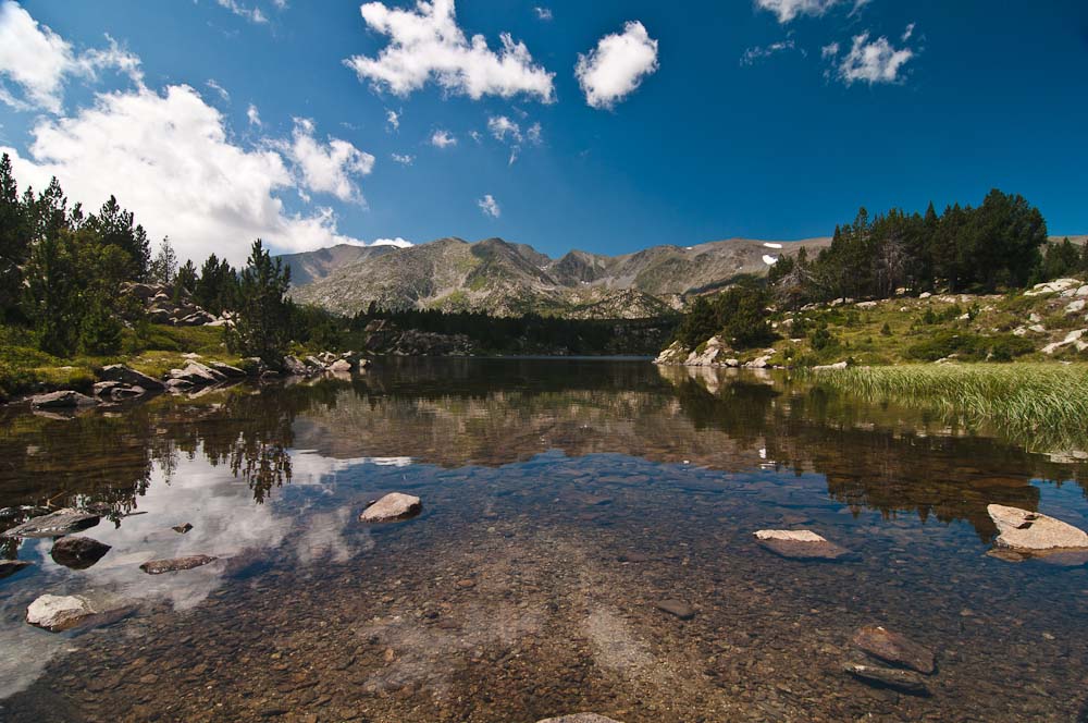
[[[487,47],[482,35],[467,38],[457,26],[454,0],[420,0],[415,10],[368,2],[359,10],[372,30],[390,38],[376,58],[353,56],[344,61],[359,79],[398,96],[432,81],[447,93],[473,100],[518,94],[554,100],[555,74],[535,64],[526,45],[515,42],[509,33],[499,36],[503,48],[498,52]]]

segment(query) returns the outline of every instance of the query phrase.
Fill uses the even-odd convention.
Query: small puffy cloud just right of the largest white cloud
[[[329,138],[321,144],[313,137],[313,122],[295,119],[292,140],[275,144],[289,158],[299,174],[299,185],[313,193],[325,193],[348,203],[362,203],[355,179],[374,170],[374,157],[347,140]]]

